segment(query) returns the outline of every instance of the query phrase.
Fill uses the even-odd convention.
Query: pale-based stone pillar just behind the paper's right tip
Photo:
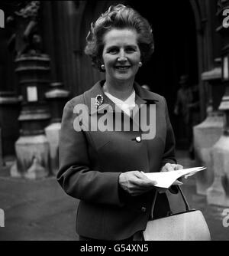
[[[223,132],[223,117],[218,111],[218,106],[224,93],[221,84],[221,67],[202,74],[202,80],[208,83],[208,116],[193,128],[195,156],[200,166],[207,169],[195,175],[196,190],[200,195],[206,195],[207,189],[214,180],[212,147]]]

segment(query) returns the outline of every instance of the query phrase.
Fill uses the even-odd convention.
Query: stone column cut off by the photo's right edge
[[[229,31],[223,23],[223,12],[228,5],[228,0],[218,1],[219,25],[216,31],[221,35],[222,80],[225,87],[219,110],[224,113],[224,133],[212,149],[214,182],[207,190],[208,204],[224,207],[229,206]]]

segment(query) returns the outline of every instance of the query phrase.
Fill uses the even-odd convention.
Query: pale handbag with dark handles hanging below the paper
[[[210,241],[211,236],[202,212],[190,209],[185,195],[177,185],[185,203],[185,212],[170,213],[168,217],[153,219],[156,194],[153,199],[150,220],[143,231],[145,241]]]

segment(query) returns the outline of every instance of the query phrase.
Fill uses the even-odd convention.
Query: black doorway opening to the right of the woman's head
[[[176,135],[178,148],[187,148],[184,124],[173,113],[179,77],[189,74],[190,83],[198,83],[197,44],[195,18],[189,0],[133,2],[125,4],[136,9],[153,27],[155,52],[151,60],[137,74],[140,84],[163,95]]]

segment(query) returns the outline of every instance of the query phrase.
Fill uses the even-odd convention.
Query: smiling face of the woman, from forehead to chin
[[[104,36],[102,59],[106,78],[110,80],[134,80],[140,62],[137,31],[113,28]]]

